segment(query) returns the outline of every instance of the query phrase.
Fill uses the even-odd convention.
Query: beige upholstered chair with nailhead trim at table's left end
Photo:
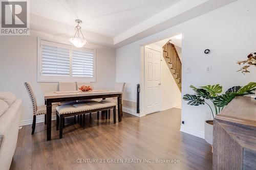
[[[29,97],[31,100],[31,103],[33,105],[33,123],[32,123],[32,135],[35,132],[35,124],[36,124],[36,116],[37,115],[45,115],[45,124],[46,124],[46,106],[37,106],[37,101],[35,94],[33,92],[32,86],[29,82],[25,82],[25,87],[29,93]],[[52,114],[56,114],[56,107],[58,105],[52,105]]]

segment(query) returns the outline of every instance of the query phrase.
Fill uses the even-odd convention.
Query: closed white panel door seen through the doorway
[[[160,111],[161,53],[145,48],[145,105],[146,114]]]

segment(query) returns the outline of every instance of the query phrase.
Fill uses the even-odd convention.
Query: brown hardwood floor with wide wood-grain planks
[[[46,126],[19,130],[10,169],[212,169],[210,145],[204,139],[180,132],[180,109],[144,117],[123,114],[121,123],[86,115],[86,125],[72,125],[73,117],[58,139],[56,123],[52,140],[46,141]],[[86,161],[98,159],[96,163]],[[100,159],[105,163],[100,163]],[[177,159],[179,163],[108,163],[127,159]],[[79,162],[78,162],[79,161]],[[82,163],[80,163],[82,161]]]

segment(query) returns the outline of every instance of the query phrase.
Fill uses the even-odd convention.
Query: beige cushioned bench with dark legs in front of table
[[[62,138],[63,133],[63,120],[65,117],[83,115],[92,112],[99,112],[113,109],[114,116],[114,124],[116,124],[116,103],[109,101],[101,101],[101,102],[90,102],[90,103],[75,103],[72,105],[61,105],[57,106],[57,114],[56,114],[56,129],[59,130],[59,138]]]

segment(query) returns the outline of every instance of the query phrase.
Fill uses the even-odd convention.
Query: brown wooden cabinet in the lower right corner
[[[233,99],[214,118],[213,169],[256,169],[256,100]]]

